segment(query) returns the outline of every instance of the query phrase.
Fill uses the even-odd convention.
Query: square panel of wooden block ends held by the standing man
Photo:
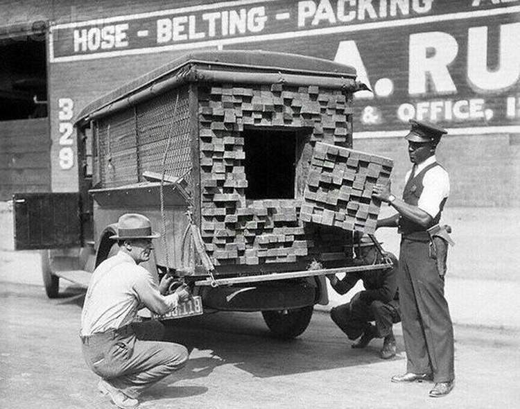
[[[388,182],[392,166],[392,159],[316,143],[300,218],[373,234],[381,202],[372,189]]]

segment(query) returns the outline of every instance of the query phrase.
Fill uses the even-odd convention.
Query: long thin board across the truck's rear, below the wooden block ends
[[[354,266],[354,267],[340,267],[340,268],[324,268],[322,270],[305,270],[305,271],[291,271],[291,272],[276,272],[268,275],[249,275],[247,277],[229,277],[222,279],[205,279],[195,281],[196,286],[226,286],[228,284],[246,284],[259,281],[275,281],[285,279],[297,279],[303,277],[312,277],[315,275],[327,274],[341,274],[343,272],[360,272],[368,270],[382,270],[385,268],[392,268],[392,264],[373,264],[372,266]]]

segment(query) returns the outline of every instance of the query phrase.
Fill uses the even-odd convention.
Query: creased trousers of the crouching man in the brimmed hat
[[[83,356],[96,375],[135,398],[187,363],[186,347],[161,342],[163,336],[160,322],[135,322],[122,329],[81,337]]]

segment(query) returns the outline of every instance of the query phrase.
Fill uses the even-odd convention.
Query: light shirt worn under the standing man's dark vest
[[[417,168],[415,169],[415,176],[419,175],[419,173],[421,173],[421,171],[426,168],[426,166],[433,164],[433,162],[437,162],[435,155],[432,155],[424,162],[417,164]],[[408,178],[411,174],[412,169],[406,173],[404,184],[408,182]],[[426,213],[429,214],[432,218],[435,218],[435,216],[437,216],[440,211],[440,204],[442,200],[447,198],[449,195],[450,186],[448,173],[441,166],[435,166],[426,171],[422,180],[422,184],[424,189],[422,190],[419,202],[417,202],[417,207],[426,211]]]

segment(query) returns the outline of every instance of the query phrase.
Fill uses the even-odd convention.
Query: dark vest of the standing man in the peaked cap
[[[417,206],[417,203],[419,203],[419,198],[421,197],[422,191],[424,189],[424,185],[422,184],[424,175],[426,175],[426,172],[435,166],[440,166],[440,164],[433,162],[433,164],[426,166],[426,168],[424,168],[422,171],[417,173],[417,175],[414,175],[413,178],[406,182],[403,191],[404,202],[411,204],[412,206]],[[430,225],[427,227],[422,227],[421,225],[414,223],[412,220],[401,216],[399,218],[399,233],[403,235],[403,238],[408,238],[410,240],[430,241],[430,235],[428,232],[426,232],[426,230],[439,223],[440,215],[442,213],[442,209],[444,209],[444,203],[446,203],[446,200],[447,198],[444,198],[442,202],[440,202],[439,213],[435,216],[435,218],[433,218]]]

